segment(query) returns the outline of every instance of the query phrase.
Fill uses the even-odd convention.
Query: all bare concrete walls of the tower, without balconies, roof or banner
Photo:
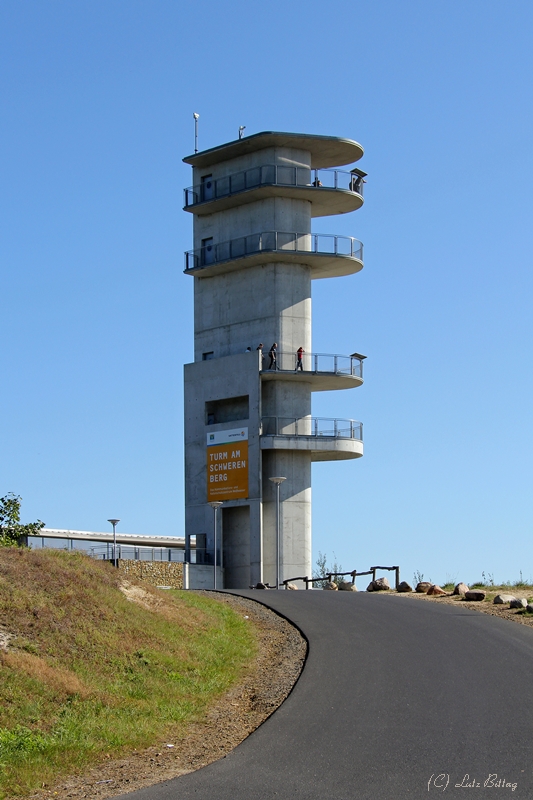
[[[223,162],[195,174],[214,179],[259,164],[310,166],[309,153],[268,149]],[[262,231],[311,231],[311,204],[307,200],[268,198],[236,208],[195,217],[194,246],[213,237],[227,241]],[[249,395],[248,501],[224,504],[223,541],[226,587],[275,581],[276,519],[272,511],[274,475],[287,478],[282,492],[284,531],[282,560],[286,571],[307,574],[311,561],[311,460],[306,453],[269,452],[259,447],[262,416],[302,418],[311,414],[310,386],[303,382],[265,382],[261,388],[256,348],[279,352],[312,350],[311,270],[297,263],[271,263],[221,275],[194,278],[195,364],[185,369],[186,525],[191,534],[206,533],[213,546],[213,512],[206,506],[205,403],[211,398]],[[251,354],[244,354],[247,347]],[[205,353],[213,358],[202,361]],[[215,426],[213,430],[220,429]],[[231,424],[223,428],[232,427]],[[264,478],[262,477],[264,476]],[[265,505],[263,506],[263,494]],[[290,575],[289,575],[290,577]]]

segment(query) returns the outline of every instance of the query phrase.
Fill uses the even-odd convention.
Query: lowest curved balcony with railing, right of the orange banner
[[[311,451],[311,461],[344,461],[363,455],[363,424],[327,417],[263,417],[261,450]]]

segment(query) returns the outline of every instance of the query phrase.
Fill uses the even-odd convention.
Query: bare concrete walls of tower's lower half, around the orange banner
[[[310,574],[310,454],[291,451],[261,453],[260,449],[261,417],[308,416],[311,413],[309,385],[276,381],[261,385],[259,357],[255,351],[187,364],[184,383],[187,533],[206,534],[207,549],[212,553],[214,526],[213,510],[207,505],[206,434],[227,430],[236,424],[246,425],[249,432],[249,496],[246,501],[227,501],[222,511],[226,588],[246,588],[260,580],[275,582],[276,520],[273,485],[268,478],[276,475],[287,478],[281,489],[284,498],[283,577]],[[249,398],[248,419],[240,420],[240,423],[230,421],[206,425],[206,402],[243,395]],[[230,509],[239,509],[239,512]],[[220,563],[220,553],[217,561]]]

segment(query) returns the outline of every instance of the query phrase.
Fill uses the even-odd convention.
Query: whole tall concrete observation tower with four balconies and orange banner
[[[274,586],[278,557],[280,580],[310,576],[311,464],[363,455],[361,423],[311,416],[312,392],[363,382],[364,356],[311,344],[311,282],[363,268],[361,242],[316,233],[311,221],[362,206],[366,173],[335,169],[362,155],[350,139],[263,132],[184,159],[194,219],[186,537],[214,564],[217,525],[218,588]],[[285,478],[279,504],[273,477]]]

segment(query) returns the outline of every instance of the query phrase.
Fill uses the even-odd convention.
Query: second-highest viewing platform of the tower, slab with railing
[[[185,274],[211,277],[269,262],[311,267],[311,278],[337,278],[363,269],[363,243],[328,233],[265,231],[227,242],[204,241],[185,253]]]

